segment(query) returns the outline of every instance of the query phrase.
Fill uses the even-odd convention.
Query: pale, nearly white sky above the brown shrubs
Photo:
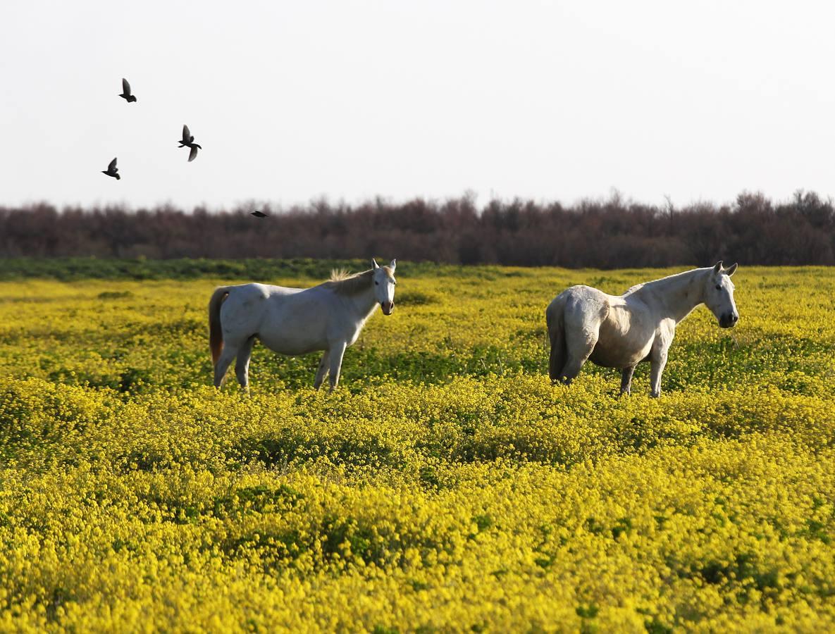
[[[3,0],[0,205],[833,195],[833,25],[827,2]]]

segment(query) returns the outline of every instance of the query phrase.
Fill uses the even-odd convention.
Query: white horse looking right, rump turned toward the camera
[[[628,394],[635,366],[649,360],[651,394],[659,396],[678,322],[706,304],[721,327],[736,325],[734,271],[736,264],[723,268],[719,261],[716,266],[638,284],[620,297],[584,286],[559,293],[545,311],[551,380],[571,383],[590,359],[605,368],[620,368],[620,393]]]

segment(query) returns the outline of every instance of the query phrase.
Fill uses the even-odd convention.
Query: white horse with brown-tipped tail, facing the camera
[[[339,383],[345,348],[357,341],[368,317],[382,307],[394,310],[394,269],[397,261],[356,275],[334,271],[331,279],[312,288],[241,284],[218,287],[209,302],[209,340],[215,366],[215,387],[237,357],[235,374],[249,389],[252,344],[256,337],[276,353],[295,356],[324,350],[316,381],[319,389],[331,373],[331,392]]]

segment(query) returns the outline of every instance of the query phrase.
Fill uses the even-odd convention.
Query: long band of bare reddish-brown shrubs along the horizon
[[[613,195],[572,206],[471,198],[362,205],[316,201],[289,209],[210,213],[170,206],[0,207],[0,257],[330,258],[511,266],[617,268],[835,263],[835,205],[813,192],[773,202],[644,205]],[[191,265],[190,265],[191,266]],[[205,263],[205,267],[211,267]],[[253,265],[248,265],[253,266]],[[294,271],[297,274],[297,271]],[[225,275],[225,273],[224,273]]]

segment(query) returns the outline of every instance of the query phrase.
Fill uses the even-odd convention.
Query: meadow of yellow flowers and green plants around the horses
[[[0,271],[0,631],[835,629],[832,269],[741,266],[652,399],[552,386],[544,309],[681,269],[402,261],[337,393],[256,344],[246,397],[210,292],[331,262],[43,262]]]

